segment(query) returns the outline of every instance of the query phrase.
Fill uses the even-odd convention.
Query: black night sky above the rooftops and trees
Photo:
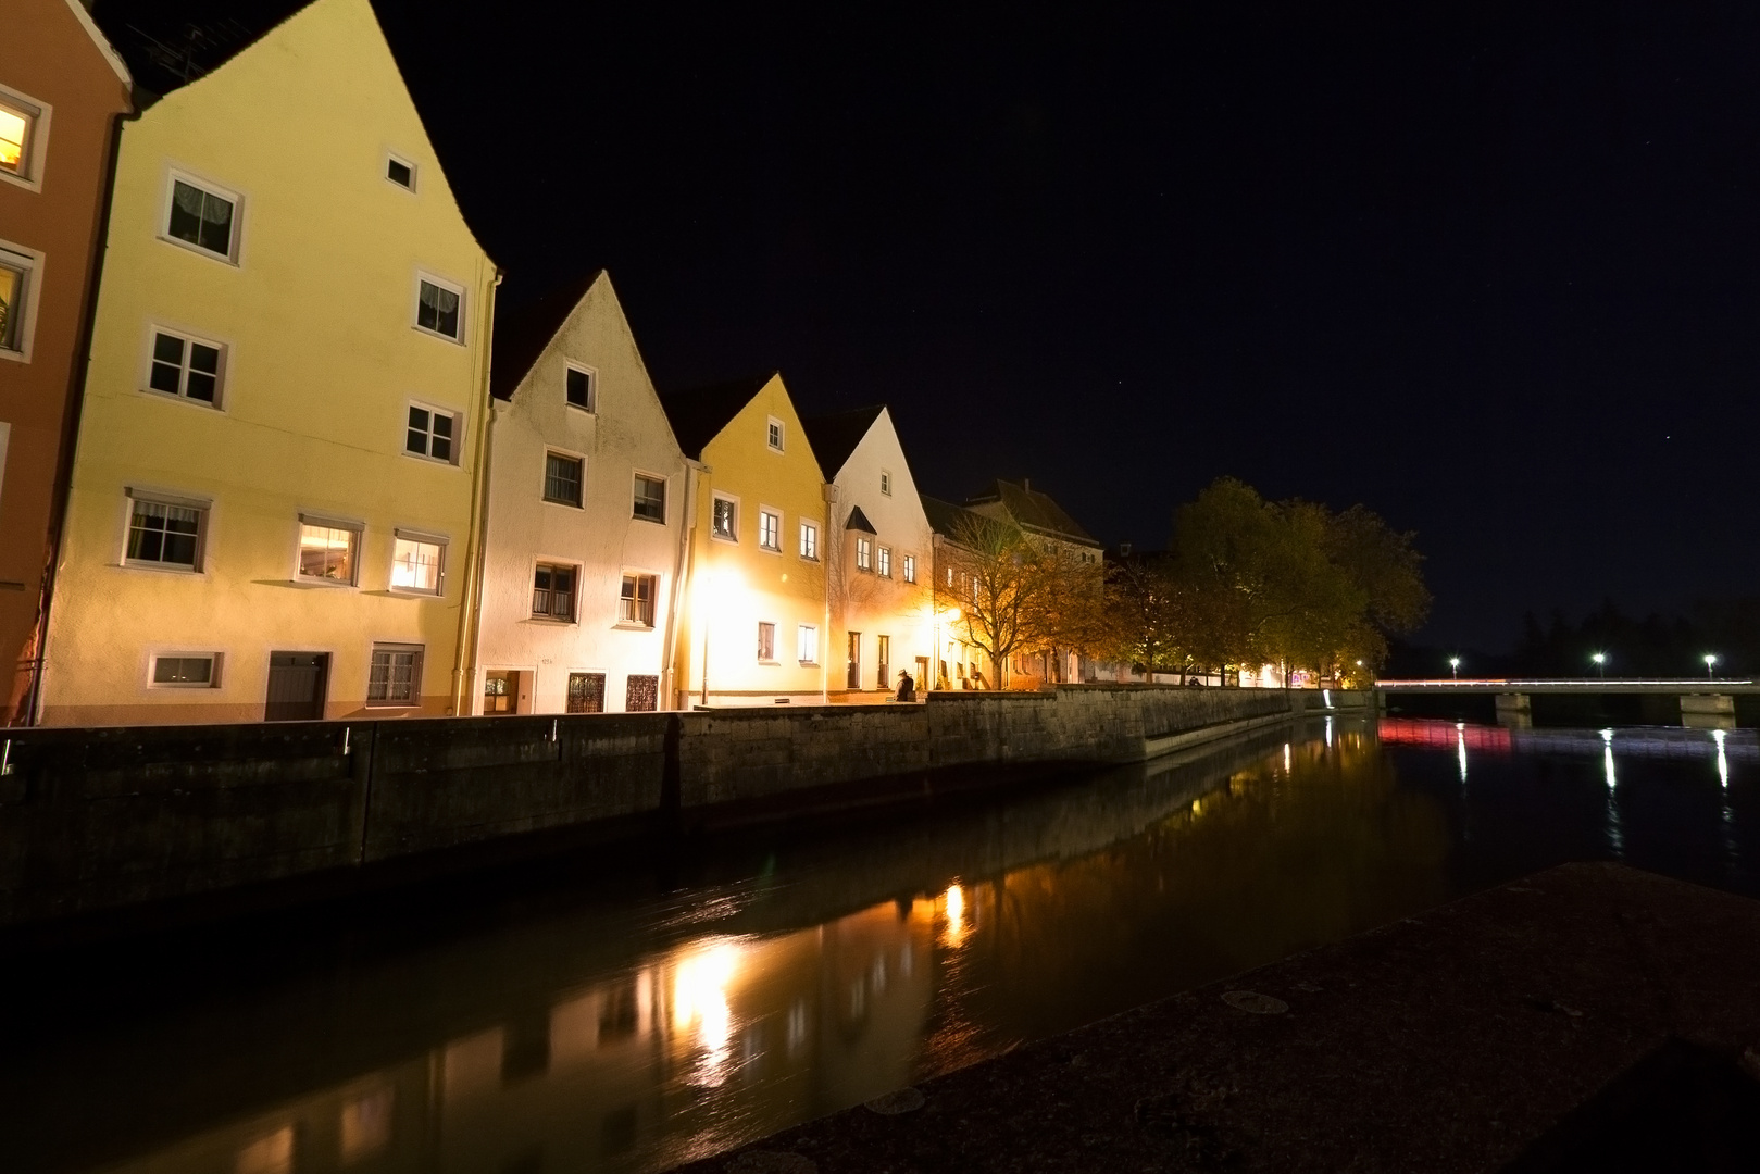
[[[510,292],[609,268],[662,387],[891,403],[1107,542],[1362,502],[1438,642],[1755,591],[1751,0],[377,7]]]

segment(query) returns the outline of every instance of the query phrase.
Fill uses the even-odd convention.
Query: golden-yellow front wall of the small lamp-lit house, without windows
[[[769,447],[769,421],[783,424],[783,451]],[[690,586],[679,616],[679,669],[690,688],[685,708],[702,702],[708,651],[711,706],[774,704],[774,697],[818,701],[827,665],[841,665],[825,621],[825,482],[781,377],[773,377],[702,449],[709,472],[697,479]],[[737,540],[711,535],[715,493],[739,502]],[[759,509],[781,514],[781,551],[759,547]],[[818,560],[801,558],[801,517],[818,525]],[[759,621],[776,625],[776,664],[759,664]],[[801,664],[799,625],[818,630],[818,658]]]

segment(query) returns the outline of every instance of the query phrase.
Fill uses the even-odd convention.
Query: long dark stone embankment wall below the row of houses
[[[1360,711],[1368,695],[1331,702]],[[1139,762],[1322,706],[1301,690],[1089,685],[920,706],[14,730],[0,926],[479,859],[533,833],[607,840]]]

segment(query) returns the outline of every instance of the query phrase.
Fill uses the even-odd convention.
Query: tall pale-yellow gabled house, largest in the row
[[[456,711],[495,280],[368,0],[128,123],[42,722]]]

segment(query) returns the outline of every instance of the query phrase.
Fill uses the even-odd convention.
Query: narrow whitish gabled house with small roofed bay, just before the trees
[[[933,532],[885,407],[804,421],[820,470],[836,489],[831,509],[832,642],[845,701],[882,701],[899,671],[919,690],[935,657]]]

